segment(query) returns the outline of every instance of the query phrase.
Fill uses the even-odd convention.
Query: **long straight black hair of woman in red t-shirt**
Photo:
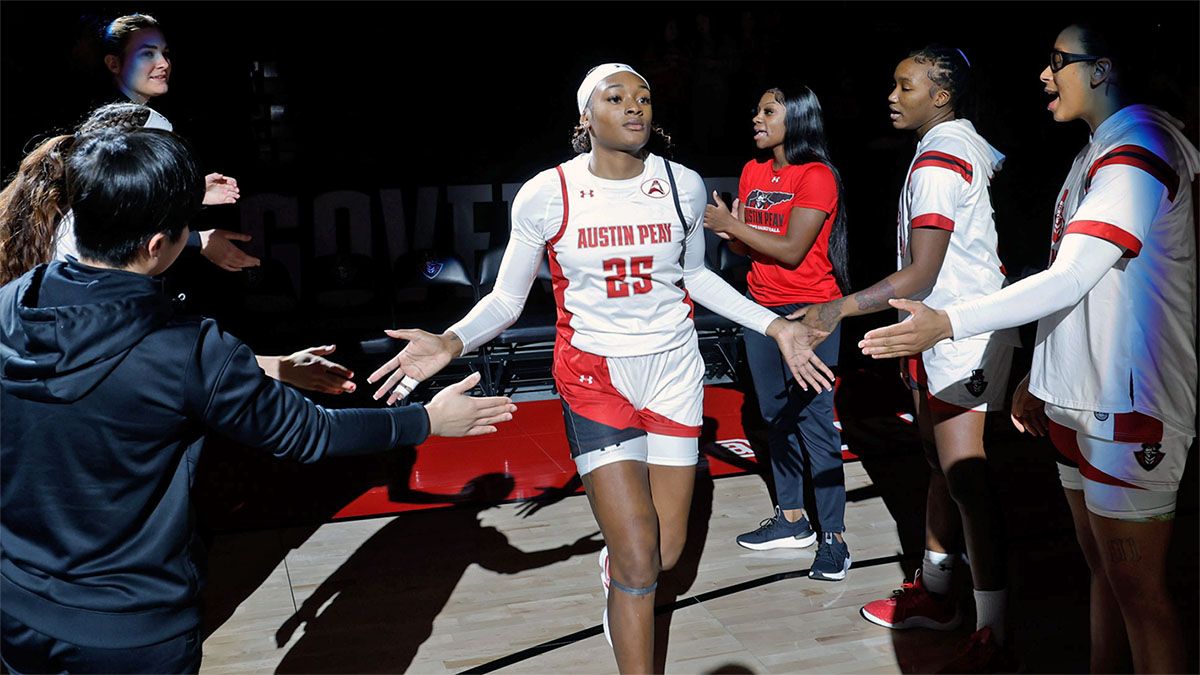
[[[784,155],[790,165],[821,162],[833,172],[838,184],[838,214],[829,229],[829,263],[833,276],[842,293],[850,293],[850,256],[846,243],[846,199],[841,184],[841,173],[829,161],[829,148],[826,143],[824,117],[821,114],[821,102],[811,89],[800,84],[787,88],[791,94],[774,88],[767,91],[784,106],[786,136],[784,137]]]

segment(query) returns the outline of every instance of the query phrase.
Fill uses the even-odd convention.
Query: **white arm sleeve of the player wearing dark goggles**
[[[1075,305],[1122,253],[1123,247],[1106,239],[1068,233],[1050,269],[990,295],[946,307],[954,339],[1022,325]]]

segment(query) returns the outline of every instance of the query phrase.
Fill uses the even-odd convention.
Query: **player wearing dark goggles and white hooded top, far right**
[[[1122,86],[1135,49],[1120,32],[1072,25],[1042,72],[1057,121],[1092,131],[1058,195],[1050,269],[941,311],[871,331],[864,353],[912,353],[947,338],[1038,321],[1033,370],[1013,418],[1049,431],[1092,571],[1092,670],[1186,667],[1166,589],[1171,516],[1196,416],[1200,154],[1182,126]],[[1044,410],[1043,410],[1044,408]],[[1046,419],[1049,418],[1049,420]]]

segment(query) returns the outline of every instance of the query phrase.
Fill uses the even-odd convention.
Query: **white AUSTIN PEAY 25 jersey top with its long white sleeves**
[[[704,268],[706,193],[696,172],[671,163],[685,234],[665,160],[648,155],[640,175],[608,180],[592,174],[590,159],[578,155],[521,187],[496,288],[450,328],[464,353],[516,321],[542,250],[550,256],[559,339],[581,351],[629,357],[680,347],[695,331],[692,298],[766,331],[778,317]]]

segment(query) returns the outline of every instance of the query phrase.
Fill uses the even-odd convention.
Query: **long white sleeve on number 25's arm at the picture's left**
[[[553,169],[526,183],[512,199],[512,229],[496,274],[496,286],[449,328],[462,340],[462,353],[487,344],[521,316],[546,241],[562,225],[562,202],[558,174]],[[552,214],[557,214],[557,220]]]

